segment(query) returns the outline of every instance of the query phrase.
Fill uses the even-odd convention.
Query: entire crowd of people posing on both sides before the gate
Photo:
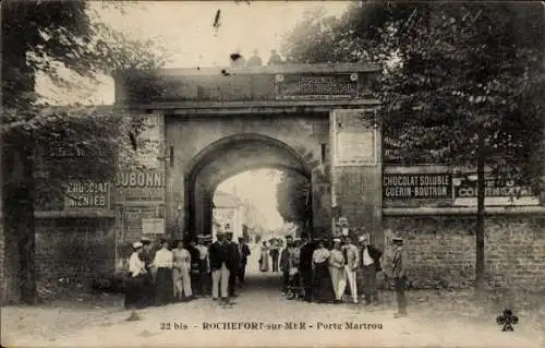
[[[125,308],[165,305],[207,296],[222,304],[231,303],[230,299],[238,296],[237,283],[244,284],[251,250],[243,238],[234,242],[232,232],[219,231],[216,237],[214,242],[210,236],[198,236],[196,241],[178,240],[173,248],[161,239],[155,252],[150,240],[133,243]],[[396,250],[389,275],[397,292],[396,315],[403,316],[407,315],[407,255],[402,239],[395,238],[392,243]],[[264,241],[262,272],[268,271],[269,253],[270,248]],[[366,304],[376,303],[382,256],[383,251],[371,244],[365,235],[314,240],[287,236],[286,248],[279,255],[282,296],[320,303],[339,303],[348,296],[353,303],[361,299]]]

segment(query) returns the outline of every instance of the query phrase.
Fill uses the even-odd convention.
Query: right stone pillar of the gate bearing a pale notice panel
[[[365,229],[382,244],[382,140],[374,109],[337,109],[330,113],[331,205],[351,229]]]

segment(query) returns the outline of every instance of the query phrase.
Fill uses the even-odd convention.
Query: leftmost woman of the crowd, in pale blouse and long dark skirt
[[[147,304],[146,266],[140,259],[142,243],[133,243],[133,253],[129,259],[129,278],[125,284],[125,309],[141,309]]]

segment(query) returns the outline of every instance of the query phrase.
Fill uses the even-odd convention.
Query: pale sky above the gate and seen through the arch
[[[229,55],[235,49],[250,57],[257,49],[264,61],[271,49],[280,49],[282,37],[305,11],[322,9],[326,15],[341,15],[349,2],[343,1],[138,1],[118,11],[93,4],[101,22],[126,33],[130,37],[154,39],[167,49],[170,61],[166,68],[229,65]],[[220,26],[213,26],[220,10]],[[112,104],[113,82],[99,76],[98,85],[62,91],[44,76],[38,77],[37,91],[55,104]],[[254,170],[226,180],[218,189],[237,192],[262,211],[270,229],[283,225],[276,208],[277,170]],[[252,182],[249,185],[247,182]],[[261,188],[257,192],[252,188]]]

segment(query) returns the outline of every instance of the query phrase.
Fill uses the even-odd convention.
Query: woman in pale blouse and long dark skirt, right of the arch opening
[[[335,299],[334,286],[329,274],[329,250],[323,241],[318,241],[318,249],[312,254],[314,268],[314,300],[331,302]]]

